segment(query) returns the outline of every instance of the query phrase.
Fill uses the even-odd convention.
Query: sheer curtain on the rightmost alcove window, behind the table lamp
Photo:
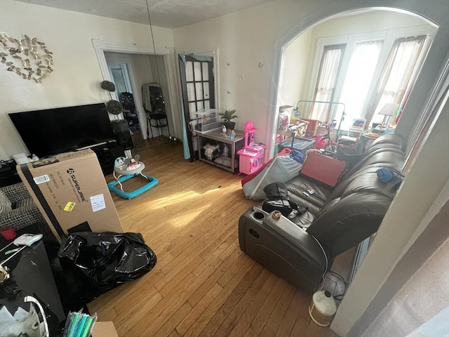
[[[378,113],[385,104],[397,103],[400,107],[405,105],[410,92],[410,84],[417,74],[417,65],[420,64],[418,60],[420,60],[426,38],[426,35],[422,35],[420,37],[404,37],[394,41],[380,77],[373,108],[366,115],[370,124],[382,121],[384,116]],[[396,116],[394,116],[396,122],[398,117],[400,117],[400,114],[396,112]],[[389,121],[390,124],[393,124],[393,122],[394,120]]]

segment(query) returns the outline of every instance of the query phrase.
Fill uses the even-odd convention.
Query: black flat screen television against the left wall
[[[105,103],[14,112],[9,117],[29,153],[39,158],[114,139]]]

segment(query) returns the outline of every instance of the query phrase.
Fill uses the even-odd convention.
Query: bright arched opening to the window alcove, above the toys
[[[353,121],[363,121],[366,130],[377,126],[394,132],[407,119],[404,110],[436,31],[434,23],[414,13],[363,8],[330,15],[296,34],[288,32],[289,39],[278,41],[283,44],[271,115],[274,127],[267,142],[271,153],[283,139],[276,130],[285,127],[278,112],[286,105],[291,107],[288,117],[323,124],[335,120],[335,138],[357,136],[350,133]],[[384,112],[386,107],[391,114]]]

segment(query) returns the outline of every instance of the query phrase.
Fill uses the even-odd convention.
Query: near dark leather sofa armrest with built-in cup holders
[[[240,249],[291,284],[313,293],[327,268],[318,242],[288,218],[253,207],[239,219]]]

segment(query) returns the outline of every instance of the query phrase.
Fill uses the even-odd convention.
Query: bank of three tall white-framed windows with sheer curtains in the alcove
[[[429,27],[420,26],[319,39],[319,57],[312,70],[314,86],[309,89],[309,97],[344,103],[342,130],[348,130],[354,119],[366,119],[366,127],[382,122],[384,116],[379,112],[387,103],[398,105],[394,115],[387,119],[387,124],[395,124],[433,33]],[[309,118],[340,121],[342,111],[315,103],[311,105]]]

